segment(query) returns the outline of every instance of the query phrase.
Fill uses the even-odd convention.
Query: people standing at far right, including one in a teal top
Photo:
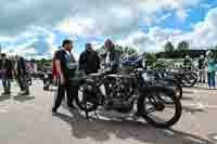
[[[189,55],[183,61],[183,66],[192,70],[192,61]],[[208,83],[208,88],[216,89],[217,57],[214,51],[207,51],[197,61],[199,82]]]

